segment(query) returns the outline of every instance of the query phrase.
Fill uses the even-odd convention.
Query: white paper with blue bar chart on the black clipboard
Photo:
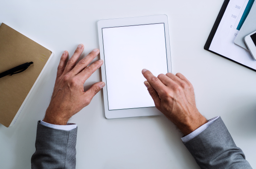
[[[234,44],[237,34],[255,0],[230,0],[215,32],[209,51],[256,70],[250,52]]]

